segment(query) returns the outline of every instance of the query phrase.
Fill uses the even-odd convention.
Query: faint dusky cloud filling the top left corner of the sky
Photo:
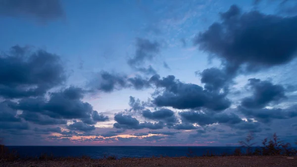
[[[0,15],[10,17],[34,17],[48,21],[62,17],[60,0],[0,0]]]

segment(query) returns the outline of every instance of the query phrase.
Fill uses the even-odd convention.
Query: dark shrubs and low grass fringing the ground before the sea
[[[290,143],[286,143],[278,138],[276,133],[274,133],[271,139],[265,138],[262,141],[262,147],[257,147],[252,149],[255,143],[252,143],[254,139],[253,134],[249,133],[244,141],[240,141],[241,147],[236,148],[233,154],[221,153],[214,154],[212,152],[206,151],[202,157],[214,157],[214,156],[297,156],[297,150],[291,146]],[[297,141],[295,143],[297,145]],[[187,157],[198,157],[191,149],[187,154]],[[156,158],[156,157],[152,157]],[[163,158],[160,155],[160,158]],[[0,161],[15,161],[19,160],[20,156],[16,151],[9,150],[4,145],[0,144]],[[39,157],[27,157],[23,160],[54,160],[54,159],[82,159],[91,160],[89,156],[82,157],[64,157],[64,158],[54,158],[53,155],[42,154]],[[103,155],[103,160],[117,160],[116,156]]]

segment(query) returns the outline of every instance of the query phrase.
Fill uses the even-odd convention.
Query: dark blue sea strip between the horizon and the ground
[[[163,146],[8,146],[9,149],[18,152],[21,158],[39,157],[41,154],[53,155],[54,157],[81,157],[89,156],[93,159],[106,156],[117,158],[142,158],[142,157],[182,157],[202,156],[211,152],[219,155],[222,153],[232,154],[237,147],[163,147]]]

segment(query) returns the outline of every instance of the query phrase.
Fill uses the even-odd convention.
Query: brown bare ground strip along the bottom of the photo
[[[121,160],[17,160],[0,167],[297,167],[297,157],[197,157]]]

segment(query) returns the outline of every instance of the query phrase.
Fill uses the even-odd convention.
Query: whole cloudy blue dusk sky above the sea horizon
[[[297,139],[296,0],[0,0],[5,145]]]

